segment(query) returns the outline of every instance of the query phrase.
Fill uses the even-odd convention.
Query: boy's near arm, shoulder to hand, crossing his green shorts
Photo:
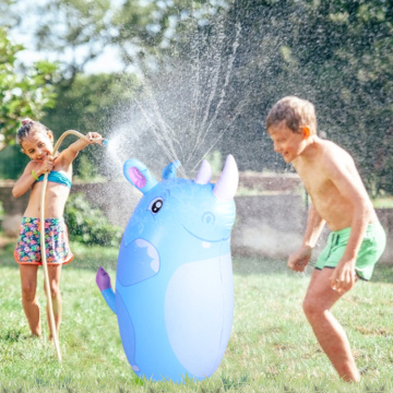
[[[373,206],[352,158],[345,165],[332,165],[331,180],[343,198],[353,205],[349,239],[344,255],[331,277],[332,288],[344,293],[356,282],[356,259],[366,228],[371,221]]]

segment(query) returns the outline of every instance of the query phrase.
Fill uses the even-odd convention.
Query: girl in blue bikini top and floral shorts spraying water
[[[12,194],[19,198],[28,190],[31,190],[31,194],[22,218],[14,258],[20,264],[22,303],[33,336],[39,337],[41,335],[36,287],[38,266],[43,264],[39,246],[39,211],[44,174],[49,174],[45,196],[45,248],[55,324],[56,331],[59,333],[61,321],[59,288],[61,265],[71,262],[73,259],[63,218],[64,205],[72,184],[72,162],[78,153],[88,144],[102,144],[103,142],[103,138],[96,132],[87,133],[86,138],[87,140],[79,139],[53,157],[53,134],[44,124],[26,119],[22,121],[22,127],[17,131],[17,143],[22,148],[22,153],[26,154],[31,162],[26,165],[21,178],[15,182]],[[48,296],[48,294],[46,295]],[[47,315],[49,340],[52,340],[48,312]]]

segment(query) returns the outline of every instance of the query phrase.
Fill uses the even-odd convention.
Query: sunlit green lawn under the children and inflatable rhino
[[[201,382],[182,385],[135,378],[117,319],[95,285],[104,265],[112,277],[116,249],[72,247],[61,277],[63,319],[59,364],[43,311],[45,336],[29,338],[12,247],[0,251],[0,391],[3,392],[377,392],[393,391],[393,267],[380,265],[334,309],[365,371],[359,384],[341,382],[301,311],[309,274],[284,261],[234,258],[235,319],[225,357]],[[43,271],[38,296],[45,306]]]

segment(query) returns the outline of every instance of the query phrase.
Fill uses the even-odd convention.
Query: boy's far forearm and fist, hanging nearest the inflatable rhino
[[[296,253],[289,255],[289,269],[295,272],[302,272],[306,269],[311,259],[312,249],[317,245],[324,224],[324,219],[322,219],[313,204],[311,204],[307,218],[307,227],[302,245]]]

